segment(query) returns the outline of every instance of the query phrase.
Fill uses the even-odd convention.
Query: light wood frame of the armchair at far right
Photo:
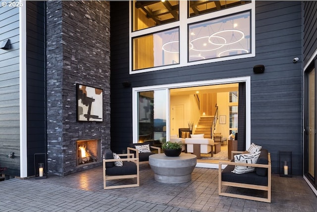
[[[232,151],[231,152],[231,158],[233,158],[234,154],[242,154],[242,153],[243,152],[241,152],[241,151]],[[269,153],[268,153],[267,157],[268,157],[268,164],[238,163],[238,162],[229,162],[229,161],[219,161],[218,195],[270,203],[271,202],[271,157],[270,157]],[[253,166],[253,167],[267,168],[267,185],[263,186],[263,185],[255,185],[255,184],[246,184],[246,183],[222,181],[221,180],[221,166],[222,165],[242,165],[242,166]],[[240,175],[243,175],[243,174],[240,174]],[[221,187],[222,186],[232,186],[232,187],[238,187],[238,188],[248,188],[248,189],[256,189],[256,190],[267,191],[267,198],[253,197],[253,196],[242,195],[242,194],[233,194],[233,193],[222,192],[221,191]]]

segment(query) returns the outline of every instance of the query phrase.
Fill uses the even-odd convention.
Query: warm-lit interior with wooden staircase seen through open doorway
[[[179,128],[193,125],[191,134],[204,134],[204,138],[220,143],[220,152],[214,151],[212,157],[201,154],[198,162],[228,159],[228,140],[238,132],[238,86],[232,83],[170,90],[170,137],[182,138]]]

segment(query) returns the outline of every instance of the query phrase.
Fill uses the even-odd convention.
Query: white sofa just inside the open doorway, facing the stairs
[[[198,154],[196,155],[198,159],[200,158],[200,153],[211,153],[211,157],[213,156],[214,141],[210,138],[185,138],[185,144],[187,145],[187,153],[194,153],[194,145],[200,145],[200,152],[197,153],[197,151],[195,151],[194,153]]]

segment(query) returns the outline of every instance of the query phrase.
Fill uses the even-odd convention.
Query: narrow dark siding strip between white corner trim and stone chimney
[[[46,2],[26,1],[27,160],[34,175],[34,154],[46,153]]]

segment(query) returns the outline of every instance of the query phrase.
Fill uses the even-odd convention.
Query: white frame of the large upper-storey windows
[[[237,11],[238,8],[238,11]],[[164,65],[159,67],[153,67],[153,68],[146,68],[146,69],[140,69],[140,70],[132,70],[132,38],[146,35],[146,34],[152,34],[159,31],[165,31],[170,28],[179,27],[179,43],[180,44],[186,44],[187,43],[187,26],[188,24],[195,23],[201,20],[208,20],[211,18],[216,18],[220,16],[230,15],[233,13],[237,13],[240,11],[246,11],[251,10],[251,53],[248,54],[238,54],[234,56],[227,56],[227,57],[219,57],[219,58],[212,58],[212,59],[206,59],[206,60],[200,60],[200,61],[193,61],[188,62],[188,50],[187,45],[180,45],[180,58],[179,58],[179,64],[173,64],[173,65]],[[191,66],[191,65],[198,65],[198,64],[206,64],[211,62],[219,62],[219,61],[227,61],[227,60],[233,60],[233,59],[240,59],[240,58],[249,58],[254,57],[256,55],[256,39],[255,39],[255,0],[252,0],[251,3],[243,4],[240,6],[231,7],[224,10],[215,11],[212,13],[202,14],[198,16],[194,16],[191,18],[187,18],[187,1],[180,0],[179,1],[179,21],[163,24],[147,29],[138,30],[135,32],[132,32],[132,1],[129,0],[129,73],[130,74],[137,74],[137,73],[144,73],[144,72],[150,72],[150,71],[157,71],[157,70],[163,70],[168,68],[178,68],[178,67],[185,67],[185,66]]]

